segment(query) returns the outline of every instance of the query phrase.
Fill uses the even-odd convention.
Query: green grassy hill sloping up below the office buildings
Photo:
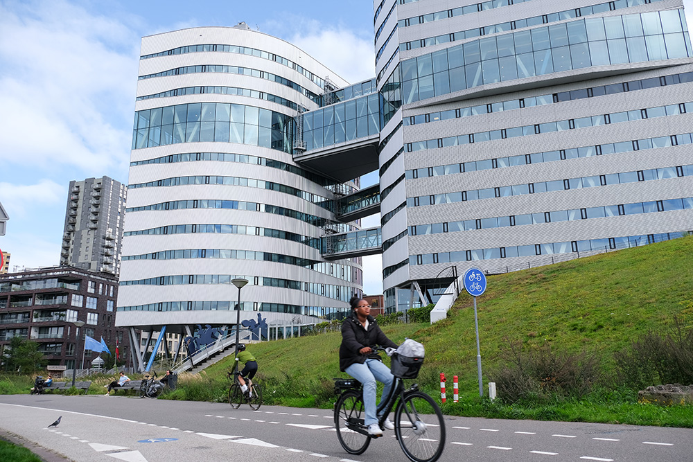
[[[477,299],[484,395],[489,374],[505,363],[501,350],[509,341],[529,350],[549,345],[558,352],[596,353],[608,373],[617,350],[648,331],[669,332],[674,317],[685,328],[693,328],[692,255],[693,237],[689,236],[489,276],[486,292]],[[547,404],[524,409],[480,398],[473,299],[466,292],[444,321],[432,326],[396,324],[383,330],[396,342],[412,337],[426,346],[426,362],[418,382],[439,398],[439,373],[446,373],[448,402],[444,411],[448,414],[693,426],[690,407],[644,407],[637,403],[637,390],[612,389],[598,396],[556,403],[558,407]],[[340,334],[333,332],[252,346],[267,400],[329,407],[333,401],[331,379],[345,376],[338,366],[340,340]],[[231,359],[207,368],[206,378],[197,380],[209,380],[220,387],[227,384],[225,374],[232,366]],[[451,402],[453,375],[459,376],[457,404]],[[186,399],[175,393],[170,398]]]

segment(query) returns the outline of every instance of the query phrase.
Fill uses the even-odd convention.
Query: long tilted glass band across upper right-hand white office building
[[[401,62],[403,103],[521,78],[693,55],[683,10],[585,18]]]

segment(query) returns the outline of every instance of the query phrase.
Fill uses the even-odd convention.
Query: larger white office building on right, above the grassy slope
[[[387,308],[693,229],[681,1],[375,6]]]

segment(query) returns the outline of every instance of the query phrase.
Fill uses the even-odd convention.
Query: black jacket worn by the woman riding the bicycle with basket
[[[368,317],[368,330],[365,330],[355,316],[349,316],[342,322],[342,344],[340,345],[340,371],[356,362],[363,364],[369,357],[380,359],[376,353],[362,355],[358,352],[364,346],[390,346],[397,348],[394,341],[385,337],[376,319]]]

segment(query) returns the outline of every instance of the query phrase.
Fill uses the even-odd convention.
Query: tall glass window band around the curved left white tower
[[[261,107],[191,103],[135,112],[132,149],[218,141],[291,152],[294,119]]]

